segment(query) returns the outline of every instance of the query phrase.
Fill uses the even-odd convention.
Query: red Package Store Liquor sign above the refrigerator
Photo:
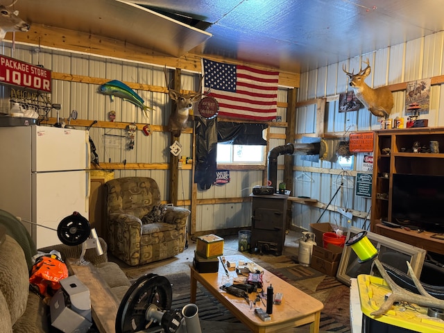
[[[51,71],[0,55],[0,83],[51,92]]]

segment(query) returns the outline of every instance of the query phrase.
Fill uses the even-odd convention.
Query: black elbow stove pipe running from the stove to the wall
[[[276,182],[278,182],[278,156],[279,155],[319,155],[325,154],[327,146],[325,142],[314,142],[311,144],[285,144],[277,146],[268,153],[268,186],[273,187],[276,193]]]

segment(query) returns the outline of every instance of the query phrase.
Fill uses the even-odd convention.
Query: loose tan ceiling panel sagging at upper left
[[[44,24],[128,42],[180,57],[211,37],[210,33],[134,3],[117,0],[19,0],[19,17]]]

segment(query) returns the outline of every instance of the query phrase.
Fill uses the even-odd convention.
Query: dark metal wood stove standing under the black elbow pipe
[[[251,251],[282,255],[285,242],[287,194],[255,195],[252,198]]]

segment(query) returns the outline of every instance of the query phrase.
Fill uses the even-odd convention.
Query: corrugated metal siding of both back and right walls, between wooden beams
[[[298,101],[307,101],[316,98],[334,96],[347,89],[347,76],[342,71],[346,69],[359,69],[361,60],[368,58],[372,65],[372,74],[367,78],[368,85],[377,87],[393,83],[402,83],[408,80],[418,80],[443,74],[443,43],[444,33],[436,33],[427,37],[413,40],[400,45],[377,50],[357,58],[351,58],[338,64],[321,67],[313,71],[301,74]],[[15,49],[8,42],[3,42],[1,52],[5,56],[11,56],[34,65],[43,65],[54,72],[89,76],[92,78],[108,78],[122,81],[142,83],[147,85],[165,86],[164,71],[162,67],[146,65],[139,62],[101,58],[79,53],[52,49],[37,49],[34,46],[17,44]],[[173,71],[168,70],[169,80]],[[198,74],[182,71],[182,89],[198,90]],[[71,110],[78,111],[79,119],[91,121],[108,120],[108,112],[111,110],[117,114],[116,121],[152,123],[166,125],[171,112],[169,96],[163,93],[136,91],[145,105],[155,110],[148,110],[149,119],[146,119],[141,110],[133,104],[115,99],[111,101],[109,96],[96,92],[98,85],[89,83],[71,83],[69,81],[53,80],[53,103],[60,103],[60,117],[67,118]],[[1,87],[0,99],[1,112],[7,113],[10,108],[8,101],[9,87]],[[404,92],[395,92],[395,108],[392,116],[404,117]],[[279,90],[279,101],[287,102],[287,89]],[[438,112],[444,106],[444,98],[441,97],[441,85],[432,87],[431,105],[429,114],[429,126],[444,126],[444,112]],[[343,133],[344,137],[354,130],[374,130],[379,128],[378,119],[367,110],[358,112],[338,112],[338,101],[327,103],[325,110],[325,133]],[[278,115],[282,121],[286,121],[285,108],[279,108]],[[296,134],[316,133],[316,105],[307,105],[297,110]],[[56,117],[53,110],[49,117]],[[271,128],[271,133],[284,134],[285,128]],[[153,132],[146,137],[140,131],[135,137],[135,148],[126,149],[126,131],[117,129],[94,128],[90,130],[102,162],[127,163],[167,163],[170,159],[169,145],[170,134]],[[180,137],[182,154],[192,155],[192,136],[183,133]],[[337,144],[340,139],[327,140],[330,151],[329,160],[309,162],[295,156],[295,164],[298,171],[295,172],[293,196],[309,196],[316,198],[321,203],[329,203],[332,200],[334,207],[352,209],[360,212],[370,210],[370,199],[355,196],[355,188],[341,187],[338,189],[339,177],[337,171],[341,166],[335,161]],[[270,139],[270,149],[285,143],[284,139]],[[69,149],[69,147],[67,147]],[[362,171],[364,153],[355,156],[354,171]],[[278,157],[278,163],[284,163],[284,156]],[[316,168],[319,172],[305,172],[305,169]],[[330,171],[336,171],[329,172]],[[354,177],[348,176],[350,172],[344,171],[343,176],[351,184]],[[169,192],[169,171],[148,170],[115,171],[116,178],[123,176],[149,176],[157,180],[162,194],[162,200],[167,200]],[[306,178],[308,175],[308,178]],[[231,171],[231,181],[221,187],[213,186],[207,191],[198,191],[198,198],[238,198],[248,197],[255,185],[262,185],[262,171]],[[282,180],[283,171],[278,171],[278,181]],[[304,181],[305,180],[305,181]],[[308,181],[307,181],[308,180]],[[178,173],[178,199],[191,199],[191,171],[180,170]],[[333,198],[334,196],[334,198]],[[333,198],[333,199],[332,199]],[[244,227],[250,225],[250,203],[233,203],[217,205],[198,205],[196,212],[196,231],[216,230],[222,228]],[[309,223],[318,221],[323,210],[308,205],[293,204],[293,225],[309,229]],[[364,219],[348,218],[327,210],[323,214],[321,222],[330,221],[339,225],[354,225],[362,228]],[[368,223],[367,223],[368,224]]]

